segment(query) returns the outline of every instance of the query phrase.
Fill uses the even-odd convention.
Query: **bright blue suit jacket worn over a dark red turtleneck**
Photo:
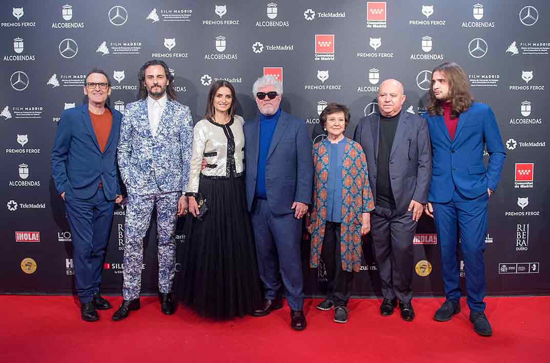
[[[460,114],[454,139],[450,139],[443,116],[423,115],[432,143],[432,182],[428,201],[449,202],[458,189],[467,198],[496,190],[506,153],[491,107],[474,102]],[[483,164],[483,148],[489,163]]]

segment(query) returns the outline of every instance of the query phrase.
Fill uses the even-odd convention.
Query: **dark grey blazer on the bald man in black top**
[[[367,156],[368,181],[375,205],[379,122],[378,114],[362,118],[354,135]],[[390,183],[399,213],[407,211],[411,200],[427,203],[432,175],[431,150],[426,120],[402,110],[389,156]]]

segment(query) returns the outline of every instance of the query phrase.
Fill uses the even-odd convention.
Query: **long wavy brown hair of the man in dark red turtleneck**
[[[464,70],[460,65],[454,62],[445,62],[438,65],[433,69],[433,74],[436,72],[443,73],[449,83],[449,98],[447,100],[438,100],[433,93],[433,83],[430,87],[430,97],[428,97],[427,108],[428,113],[431,116],[442,115],[443,107],[442,103],[449,101],[452,111],[450,113],[451,118],[457,118],[461,113],[466,111],[474,102],[474,96],[472,96],[468,87],[468,78]]]

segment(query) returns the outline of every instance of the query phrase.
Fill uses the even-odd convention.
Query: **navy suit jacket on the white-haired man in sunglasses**
[[[260,114],[244,124],[246,201],[252,210],[256,193]],[[273,213],[293,213],[293,202],[311,204],[313,159],[311,139],[303,120],[281,111],[266,160],[267,201]]]

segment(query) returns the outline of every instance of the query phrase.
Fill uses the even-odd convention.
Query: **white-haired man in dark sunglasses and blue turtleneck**
[[[281,82],[263,76],[252,94],[260,112],[244,125],[246,199],[264,289],[263,305],[254,316],[283,307],[281,271],[290,326],[300,331],[306,327],[300,240],[301,218],[311,203],[311,139],[303,120],[279,108]]]

